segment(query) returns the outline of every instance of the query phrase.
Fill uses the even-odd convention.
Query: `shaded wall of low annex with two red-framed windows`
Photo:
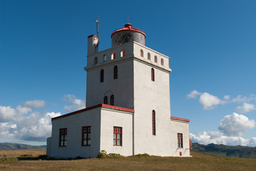
[[[91,146],[82,146],[82,127],[91,126]],[[59,147],[59,129],[68,128],[67,145]],[[52,121],[51,157],[96,157],[100,150],[101,108]]]

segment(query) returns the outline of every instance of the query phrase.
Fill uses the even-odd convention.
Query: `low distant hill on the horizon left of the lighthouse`
[[[35,150],[46,149],[46,145],[24,145],[19,143],[0,142],[0,150]]]

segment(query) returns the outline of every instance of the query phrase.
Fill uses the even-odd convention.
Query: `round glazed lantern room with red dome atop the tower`
[[[125,28],[118,28],[112,32],[111,40],[112,48],[131,41],[145,46],[145,32],[138,28],[132,28],[131,24],[126,24]]]

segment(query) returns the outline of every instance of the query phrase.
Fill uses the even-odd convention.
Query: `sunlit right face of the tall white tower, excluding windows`
[[[169,72],[155,62],[145,63],[140,55],[143,46],[135,44],[134,61],[134,141],[135,154],[170,156],[170,87]],[[144,50],[145,51],[145,50]],[[145,51],[147,52],[147,51]],[[153,54],[153,53],[152,53]],[[158,54],[158,58],[161,58]],[[137,60],[138,58],[138,60]],[[143,58],[143,61],[140,59]],[[163,58],[165,58],[163,56]],[[151,68],[155,81],[151,81]],[[155,110],[155,134],[152,128],[152,111]]]

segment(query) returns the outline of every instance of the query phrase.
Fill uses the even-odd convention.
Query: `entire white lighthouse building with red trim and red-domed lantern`
[[[86,108],[52,118],[47,155],[190,156],[189,120],[170,116],[168,56],[146,47],[131,24],[111,39],[98,51],[98,36],[88,36]]]

